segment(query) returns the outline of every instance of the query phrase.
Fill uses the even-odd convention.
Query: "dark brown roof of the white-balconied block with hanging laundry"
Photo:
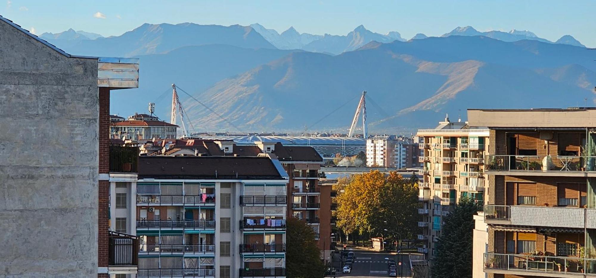
[[[269,157],[140,156],[139,179],[283,179]]]

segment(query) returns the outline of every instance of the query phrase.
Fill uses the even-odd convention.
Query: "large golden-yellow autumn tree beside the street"
[[[337,226],[346,233],[398,233],[405,239],[417,229],[418,188],[414,176],[404,179],[397,172],[385,176],[378,170],[354,175],[337,197],[337,204]]]

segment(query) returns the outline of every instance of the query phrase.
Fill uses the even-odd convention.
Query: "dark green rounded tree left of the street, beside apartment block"
[[[285,274],[288,278],[319,278],[325,274],[315,232],[306,222],[290,217],[286,222]]]

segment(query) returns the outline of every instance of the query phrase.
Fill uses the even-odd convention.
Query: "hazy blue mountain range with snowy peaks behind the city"
[[[585,106],[594,99],[592,53],[571,36],[552,43],[530,31],[458,27],[404,42],[396,31],[364,26],[320,36],[292,27],[279,34],[259,24],[182,23],[95,39],[74,30],[43,37],[76,55],[140,58],[139,88],[113,94],[111,112],[128,116],[156,102],[167,119],[176,83],[197,131],[344,131],[362,90],[371,132],[394,133],[432,126],[444,113],[465,116],[467,108]]]

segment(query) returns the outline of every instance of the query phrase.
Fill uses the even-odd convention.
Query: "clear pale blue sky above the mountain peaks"
[[[557,40],[570,34],[596,47],[596,1],[134,1],[0,0],[0,14],[36,34],[73,28],[119,35],[143,23],[248,25],[346,34],[364,24],[377,33],[439,36],[458,26],[479,31],[530,30]]]

